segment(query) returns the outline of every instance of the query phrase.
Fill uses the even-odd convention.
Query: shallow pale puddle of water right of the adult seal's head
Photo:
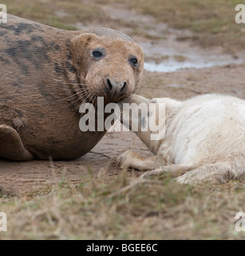
[[[211,66],[225,66],[228,64],[241,64],[245,62],[245,56],[232,56],[223,54],[221,50],[205,50],[199,46],[191,47],[183,42],[168,39],[168,42],[159,42],[151,45],[148,42],[141,44],[148,58],[163,59],[160,63],[144,62],[144,69],[156,72],[175,72],[186,68],[202,69]],[[182,61],[176,60],[176,56]]]

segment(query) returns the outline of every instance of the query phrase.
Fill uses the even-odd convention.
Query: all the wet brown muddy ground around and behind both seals
[[[199,94],[217,92],[245,98],[244,53],[233,50],[232,53],[224,54],[220,47],[202,49],[200,46],[193,45],[193,42],[188,39],[180,40],[180,36],[182,39],[188,38],[191,33],[189,31],[168,29],[168,26],[157,23],[154,18],[136,15],[129,10],[121,11],[121,17],[115,15],[115,9],[107,7],[106,10],[110,15],[107,26],[116,27],[132,35],[133,26],[130,28],[127,24],[122,24],[121,20],[127,19],[128,22],[140,24],[138,30],[141,33],[135,40],[144,47],[148,63],[156,62],[157,64],[166,59],[168,62],[169,59],[175,59],[175,61],[178,59],[180,68],[181,64],[184,66],[194,53],[194,57],[191,56],[192,58],[189,59],[194,68],[182,70],[178,68],[175,72],[145,71],[140,94],[149,98],[172,97],[184,100]],[[148,24],[151,26],[147,26]],[[99,25],[101,24],[89,26]],[[83,24],[77,24],[77,29],[83,27]],[[206,64],[211,63],[210,67],[198,66],[203,58]],[[220,62],[215,62],[219,58]],[[195,68],[195,63],[198,69]],[[167,64],[169,63],[166,62]],[[97,182],[100,182],[101,174],[105,174],[104,177],[110,181],[117,177],[120,170],[109,167],[109,163],[129,148],[136,149],[142,155],[151,155],[146,146],[132,132],[110,132],[89,154],[75,161],[8,162],[0,160],[0,189],[2,194],[11,195],[46,193],[49,191],[49,186],[60,182],[69,182],[70,186],[77,186],[89,176],[90,170]],[[128,171],[129,177],[138,175],[140,175],[139,172]]]

